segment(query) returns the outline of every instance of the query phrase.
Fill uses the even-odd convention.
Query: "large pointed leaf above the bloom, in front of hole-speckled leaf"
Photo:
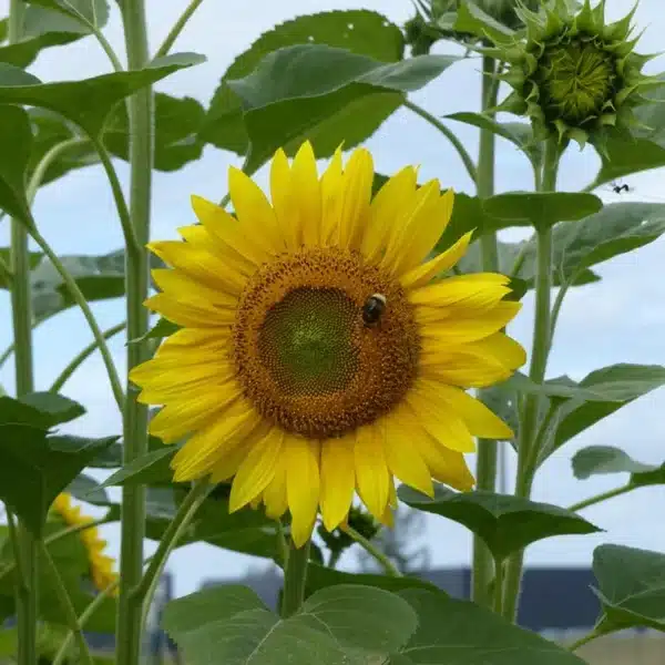
[[[419,90],[458,60],[452,55],[419,55],[386,64],[319,44],[269,53],[253,73],[228,81],[243,101],[250,143],[247,170],[258,168],[280,146],[293,152],[305,139],[313,141],[319,156],[330,154],[346,134],[321,132],[323,123],[376,94],[383,96],[391,113],[407,92]],[[357,112],[355,109],[354,117]]]

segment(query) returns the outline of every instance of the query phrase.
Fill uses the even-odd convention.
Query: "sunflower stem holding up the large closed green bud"
[[[556,172],[561,151],[555,139],[545,143],[543,160],[542,191],[554,192],[556,188]],[[529,378],[534,383],[542,383],[548,368],[551,335],[551,307],[552,293],[552,228],[536,228],[536,272],[535,272],[535,314],[533,321],[533,346],[531,348],[531,367]],[[524,410],[520,421],[518,446],[518,475],[515,494],[529,499],[531,487],[536,470],[538,450],[533,450],[538,436],[538,420],[542,400],[538,395],[528,395]],[[543,437],[543,440],[545,437]],[[503,596],[503,616],[515,620],[520,586],[522,583],[522,567],[524,551],[515,552],[509,560],[505,570],[505,584]]]

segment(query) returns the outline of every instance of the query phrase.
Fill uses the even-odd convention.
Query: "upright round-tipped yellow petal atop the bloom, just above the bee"
[[[374,162],[369,151],[356,149],[344,170],[344,198],[339,216],[338,243],[342,248],[359,249],[367,227]]]

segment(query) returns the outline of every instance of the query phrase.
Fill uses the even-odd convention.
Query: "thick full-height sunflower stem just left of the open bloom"
[[[122,24],[127,53],[127,69],[143,69],[150,58],[144,0],[121,3]],[[151,86],[136,92],[127,101],[130,140],[130,221],[137,245],[127,238],[125,293],[127,339],[139,339],[149,329],[147,309],[143,301],[150,288],[150,267],[145,245],[150,239],[152,192],[154,105]],[[110,173],[110,172],[109,172]],[[120,203],[116,196],[116,202]],[[121,206],[119,206],[119,211]],[[124,225],[123,225],[124,227]],[[129,229],[125,229],[125,236]],[[127,372],[150,357],[143,344],[127,345]],[[127,380],[123,420],[123,466],[147,452],[147,407],[135,399]],[[122,489],[120,548],[120,598],[115,633],[116,662],[139,665],[142,645],[142,597],[134,593],[143,577],[143,539],[145,535],[145,485]]]

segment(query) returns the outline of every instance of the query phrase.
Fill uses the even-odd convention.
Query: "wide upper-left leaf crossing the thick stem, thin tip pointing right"
[[[23,70],[0,63],[0,103],[50,109],[75,122],[89,135],[99,136],[120,101],[203,60],[202,55],[178,53],[155,60],[142,70],[59,83],[42,83]]]

